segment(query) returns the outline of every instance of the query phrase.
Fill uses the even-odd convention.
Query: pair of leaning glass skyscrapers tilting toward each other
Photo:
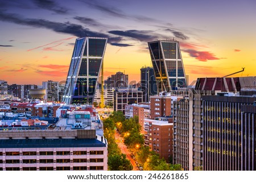
[[[68,105],[93,103],[107,41],[108,38],[76,39],[62,102]],[[186,88],[179,42],[156,40],[148,42],[148,47],[158,93]]]

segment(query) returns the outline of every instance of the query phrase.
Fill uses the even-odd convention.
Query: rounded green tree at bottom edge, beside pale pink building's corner
[[[113,154],[108,158],[108,167],[110,171],[131,171],[133,166],[130,160],[126,159],[125,154]]]

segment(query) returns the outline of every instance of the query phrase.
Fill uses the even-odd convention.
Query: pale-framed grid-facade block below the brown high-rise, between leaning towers
[[[125,106],[142,102],[142,91],[137,88],[116,89],[114,91],[114,111],[125,114]]]

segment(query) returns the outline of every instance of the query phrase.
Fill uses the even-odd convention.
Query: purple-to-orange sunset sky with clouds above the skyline
[[[189,82],[256,76],[256,1],[0,0],[0,80],[37,84],[67,77],[81,36],[108,37],[105,78],[140,80],[151,66],[147,42],[175,39]]]

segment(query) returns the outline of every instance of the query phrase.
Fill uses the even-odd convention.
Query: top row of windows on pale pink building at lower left
[[[90,155],[103,155],[103,151],[88,151]],[[5,155],[19,155],[19,152],[6,152]],[[56,155],[70,155],[70,151],[57,151]],[[0,152],[0,155],[3,155],[3,152]],[[36,152],[22,152],[22,155],[36,155]],[[53,151],[42,151],[39,152],[39,155],[53,155]],[[87,151],[73,151],[73,155],[87,155]]]

